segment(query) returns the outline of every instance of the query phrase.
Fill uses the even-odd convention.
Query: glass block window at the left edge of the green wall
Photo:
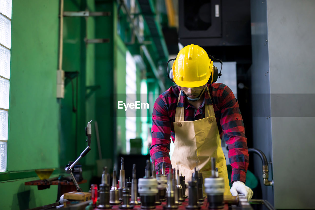
[[[7,170],[12,0],[0,0],[0,172]]]

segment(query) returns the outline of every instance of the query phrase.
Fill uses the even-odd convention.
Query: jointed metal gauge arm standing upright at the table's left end
[[[77,187],[77,191],[78,192],[83,192],[82,189],[79,187],[79,184],[77,183],[77,180],[76,178],[74,177],[73,173],[74,172],[74,165],[77,164],[77,162],[83,158],[86,154],[88,154],[88,152],[91,150],[91,136],[92,136],[92,130],[91,130],[91,121],[88,122],[88,124],[86,125],[85,127],[85,136],[88,137],[87,140],[85,140],[87,143],[88,143],[88,146],[83,150],[83,152],[81,153],[81,155],[77,158],[76,161],[74,161],[72,164],[68,164],[66,165],[66,168],[65,168],[65,172],[66,173],[70,173],[71,177],[72,177],[72,180],[73,180],[73,183],[76,185]]]

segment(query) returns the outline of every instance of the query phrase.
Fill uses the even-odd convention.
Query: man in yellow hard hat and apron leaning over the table
[[[242,115],[231,89],[213,83],[217,76],[217,68],[203,48],[191,44],[180,50],[169,75],[176,85],[154,103],[151,158],[157,168],[164,160],[167,171],[178,164],[188,182],[196,162],[203,178],[210,177],[210,158],[215,157],[215,167],[225,181],[224,195],[241,193],[249,200],[253,191],[244,184],[249,157]],[[221,148],[222,131],[232,166],[231,190]],[[175,145],[171,159],[170,138]]]

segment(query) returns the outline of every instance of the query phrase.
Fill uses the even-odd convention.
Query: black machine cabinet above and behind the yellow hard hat
[[[251,45],[249,0],[178,3],[179,41],[183,46]]]

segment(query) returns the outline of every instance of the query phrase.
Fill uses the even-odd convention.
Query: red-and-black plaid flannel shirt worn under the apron
[[[244,124],[237,99],[232,90],[222,84],[207,84],[210,96],[205,91],[204,99],[198,109],[185,102],[183,92],[177,105],[180,89],[175,85],[163,92],[155,101],[152,115],[152,144],[150,155],[155,160],[156,170],[166,164],[166,172],[172,169],[169,157],[170,139],[174,142],[175,133],[173,122],[175,121],[176,107],[184,107],[185,121],[193,121],[205,118],[205,104],[212,104],[218,125],[220,137],[224,139],[229,149],[229,161],[232,166],[232,182],[245,183],[246,172],[249,165],[247,138],[244,135]]]

